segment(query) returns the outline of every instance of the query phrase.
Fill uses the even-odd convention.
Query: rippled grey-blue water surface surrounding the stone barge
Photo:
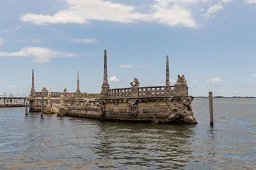
[[[256,99],[195,99],[198,125],[102,122],[0,108],[0,169],[255,169]]]

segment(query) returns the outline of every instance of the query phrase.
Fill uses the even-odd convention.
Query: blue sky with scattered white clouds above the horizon
[[[0,95],[35,88],[100,92],[104,49],[111,88],[171,83],[189,94],[256,96],[256,0],[0,1]]]

